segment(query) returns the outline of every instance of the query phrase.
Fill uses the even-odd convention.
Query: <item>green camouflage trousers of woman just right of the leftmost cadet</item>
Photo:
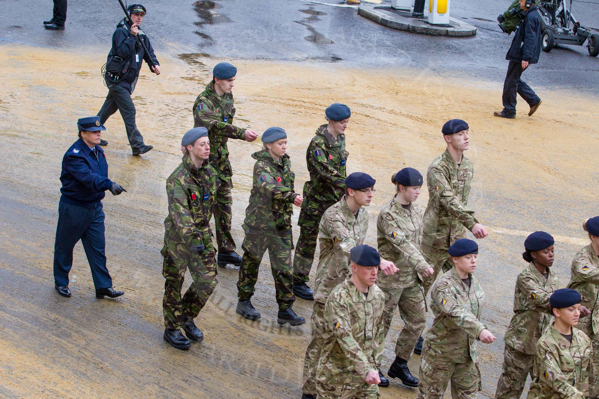
[[[258,280],[258,269],[268,249],[270,268],[273,272],[274,289],[279,309],[288,309],[295,301],[292,292],[293,266],[291,265],[291,249],[293,248],[291,230],[274,230],[273,232],[256,231],[247,233],[241,245],[243,258],[239,267],[237,296],[239,300],[250,299],[255,292]]]

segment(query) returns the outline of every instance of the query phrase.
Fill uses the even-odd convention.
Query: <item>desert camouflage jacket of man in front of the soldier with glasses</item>
[[[364,383],[378,370],[384,349],[385,294],[373,285],[358,291],[349,276],[325,304],[326,330],[316,379],[328,384]]]

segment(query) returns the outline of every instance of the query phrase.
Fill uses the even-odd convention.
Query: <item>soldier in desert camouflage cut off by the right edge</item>
[[[599,398],[599,216],[585,221],[582,227],[588,232],[591,243],[574,257],[568,288],[578,291],[582,305],[592,311],[589,316],[581,315],[583,317],[576,328],[591,339],[593,355],[589,393],[591,398]]]

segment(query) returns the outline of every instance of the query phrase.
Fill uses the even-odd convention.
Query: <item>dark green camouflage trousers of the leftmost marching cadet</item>
[[[196,254],[189,251],[189,244],[168,242],[161,254],[164,257],[162,275],[166,279],[162,299],[164,325],[180,328],[186,319],[198,316],[218,284],[214,246],[209,242],[204,252]],[[181,287],[188,269],[193,282],[181,298]]]

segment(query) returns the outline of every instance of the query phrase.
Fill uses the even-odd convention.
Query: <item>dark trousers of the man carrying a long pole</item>
[[[141,136],[140,131],[137,130],[137,125],[135,124],[135,104],[131,99],[129,90],[119,84],[109,84],[108,95],[106,96],[104,105],[102,105],[102,108],[98,112],[100,123],[104,124],[117,109],[123,117],[123,122],[125,122],[125,130],[127,131],[131,150],[143,147],[144,138]]]

